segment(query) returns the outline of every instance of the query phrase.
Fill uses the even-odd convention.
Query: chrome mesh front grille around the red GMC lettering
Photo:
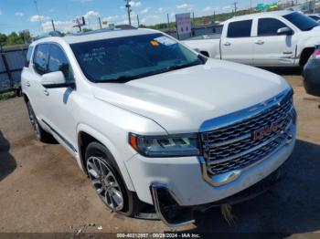
[[[240,170],[268,157],[284,145],[286,136],[283,131],[292,122],[293,99],[287,98],[248,120],[201,133],[208,173],[216,175]],[[279,128],[260,140],[253,139],[255,131],[271,127],[274,123]]]

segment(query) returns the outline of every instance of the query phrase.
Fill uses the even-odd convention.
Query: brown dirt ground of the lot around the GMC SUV
[[[283,181],[271,192],[233,206],[235,223],[231,226],[223,220],[219,209],[197,214],[197,223],[175,229],[160,221],[111,213],[67,151],[59,144],[35,140],[23,99],[0,101],[0,233],[81,230],[290,236],[320,232],[320,99],[305,94],[299,74],[280,73],[295,91],[297,144],[292,158],[284,165]],[[90,223],[93,225],[88,226]]]

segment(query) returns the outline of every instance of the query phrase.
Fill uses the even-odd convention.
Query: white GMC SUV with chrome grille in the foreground
[[[152,205],[169,225],[239,194],[293,151],[293,90],[270,72],[208,59],[148,29],[32,43],[22,89],[113,211]],[[200,205],[200,206],[199,206]]]

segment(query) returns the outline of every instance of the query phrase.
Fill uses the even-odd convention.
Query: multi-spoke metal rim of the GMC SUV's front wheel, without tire
[[[93,188],[113,211],[123,209],[123,192],[111,168],[101,158],[92,156],[87,161],[87,171]]]

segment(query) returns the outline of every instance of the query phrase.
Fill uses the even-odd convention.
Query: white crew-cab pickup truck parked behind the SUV
[[[293,11],[234,17],[222,35],[184,41],[202,54],[256,67],[304,66],[320,42],[319,23]]]

